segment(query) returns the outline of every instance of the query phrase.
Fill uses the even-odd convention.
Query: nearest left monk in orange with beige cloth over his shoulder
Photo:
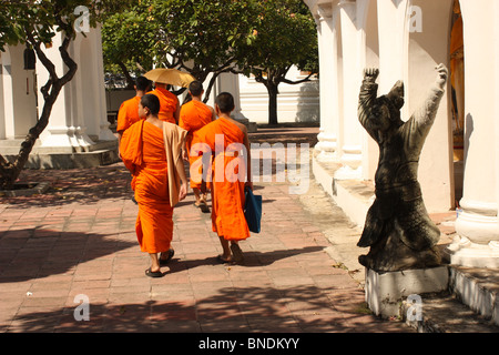
[[[171,203],[169,171],[175,169],[181,185],[176,192],[177,201],[187,194],[187,179],[182,162],[182,148],[186,132],[177,140],[176,146],[167,146],[170,152],[176,152],[180,164],[167,164],[169,153],[165,150],[163,125],[169,124],[157,119],[160,100],[157,97],[146,94],[139,104],[139,114],[145,116],[134,123],[124,133],[121,141],[122,160],[133,173],[132,189],[139,204],[139,215],[135,232],[141,251],[151,256],[151,267],[145,274],[151,277],[163,276],[161,266],[173,256],[171,242],[173,237],[173,205]],[[173,145],[173,144],[172,144]],[[181,168],[180,168],[181,166]],[[160,257],[157,257],[157,253]]]

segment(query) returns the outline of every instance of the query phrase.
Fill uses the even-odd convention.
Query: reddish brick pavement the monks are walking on
[[[369,314],[358,282],[326,252],[330,242],[286,182],[255,185],[263,226],[241,243],[242,265],[216,262],[210,214],[190,193],[174,212],[175,256],[164,277],[150,278],[121,163],[26,171],[22,180],[52,187],[0,197],[1,332],[413,332]],[[81,294],[90,321],[74,318]]]

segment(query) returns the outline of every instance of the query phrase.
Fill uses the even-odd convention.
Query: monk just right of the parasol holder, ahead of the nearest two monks
[[[202,172],[200,172],[202,168],[201,156],[191,156],[191,144],[194,132],[214,121],[216,119],[216,113],[212,106],[208,106],[202,101],[201,98],[204,90],[203,84],[200,81],[195,80],[189,84],[189,93],[191,94],[192,100],[182,105],[179,125],[189,132],[185,142],[189,163],[191,169],[198,173],[196,176],[191,175],[191,189],[196,199],[194,205],[201,207],[203,212],[210,212],[210,209],[206,205],[206,192],[201,196],[201,179],[196,179],[202,175]]]

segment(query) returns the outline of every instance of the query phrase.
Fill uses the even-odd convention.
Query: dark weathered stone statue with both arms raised
[[[366,69],[359,94],[358,119],[379,145],[375,175],[376,200],[370,206],[358,246],[370,246],[359,262],[375,271],[401,271],[440,265],[435,247],[440,231],[430,220],[417,181],[419,155],[444,95],[448,71],[437,68],[437,80],[425,103],[404,122],[404,83],[377,98],[378,69]]]

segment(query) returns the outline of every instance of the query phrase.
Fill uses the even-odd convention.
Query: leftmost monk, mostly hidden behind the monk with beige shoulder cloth
[[[139,77],[135,80],[135,97],[124,101],[120,105],[120,110],[118,111],[118,122],[116,122],[116,133],[118,133],[118,142],[120,144],[121,138],[123,136],[123,132],[130,128],[133,123],[140,120],[139,116],[139,103],[141,102],[142,97],[151,90],[152,81],[145,77]]]

